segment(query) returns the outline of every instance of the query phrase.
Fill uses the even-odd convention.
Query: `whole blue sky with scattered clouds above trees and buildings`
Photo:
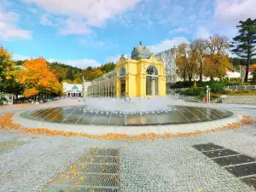
[[[214,33],[236,35],[256,0],[0,0],[0,44],[14,59],[43,55],[96,67],[130,55],[139,41],[157,53]]]

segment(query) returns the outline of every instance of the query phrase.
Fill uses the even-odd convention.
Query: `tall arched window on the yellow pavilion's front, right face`
[[[146,95],[158,95],[158,70],[154,66],[149,66],[147,68]]]

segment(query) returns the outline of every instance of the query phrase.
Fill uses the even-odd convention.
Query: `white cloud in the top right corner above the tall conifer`
[[[255,0],[218,0],[214,18],[224,24],[238,25],[239,20],[256,18]]]

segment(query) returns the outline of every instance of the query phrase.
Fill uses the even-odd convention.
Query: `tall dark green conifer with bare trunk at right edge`
[[[250,60],[256,55],[256,19],[252,20],[251,18],[248,18],[245,21],[240,20],[239,23],[240,25],[236,26],[239,28],[239,35],[233,38],[231,47],[234,54],[247,60],[247,69],[244,78],[244,81],[247,82],[249,66],[252,64],[250,63]]]

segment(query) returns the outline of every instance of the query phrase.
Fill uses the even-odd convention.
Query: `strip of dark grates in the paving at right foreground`
[[[213,143],[198,144],[192,147],[214,160],[219,166],[224,166],[226,171],[240,178],[250,188],[256,189],[256,160],[253,157]]]

